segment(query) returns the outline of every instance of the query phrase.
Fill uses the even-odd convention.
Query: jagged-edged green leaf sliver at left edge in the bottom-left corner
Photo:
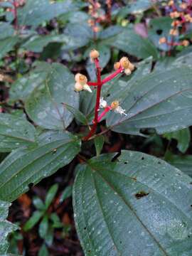
[[[7,203],[4,201],[0,201],[0,254],[6,255],[6,252],[9,247],[9,243],[7,241],[7,238],[11,232],[14,230],[17,230],[18,227],[9,221],[6,220],[8,213],[9,213],[9,207],[11,206],[11,203]]]

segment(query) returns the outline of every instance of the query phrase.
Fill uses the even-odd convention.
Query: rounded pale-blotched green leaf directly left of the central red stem
[[[73,114],[63,107],[66,103],[78,108],[79,95],[74,92],[74,76],[65,66],[53,63],[48,76],[26,100],[26,112],[39,126],[46,129],[65,129]]]

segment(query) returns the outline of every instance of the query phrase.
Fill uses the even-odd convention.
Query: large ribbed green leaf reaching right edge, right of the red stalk
[[[137,134],[144,128],[163,134],[188,127],[192,124],[191,72],[188,67],[174,68],[133,83],[117,98],[127,116],[112,112],[107,126],[126,134]]]

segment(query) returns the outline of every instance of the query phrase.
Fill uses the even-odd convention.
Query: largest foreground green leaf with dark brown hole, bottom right
[[[75,223],[85,255],[191,256],[192,179],[164,161],[122,151],[78,166]]]

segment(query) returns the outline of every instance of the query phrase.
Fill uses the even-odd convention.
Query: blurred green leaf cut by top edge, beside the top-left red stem
[[[33,26],[35,28],[43,21],[50,21],[60,14],[78,9],[74,1],[66,0],[62,3],[52,3],[49,0],[28,0],[23,8],[18,9],[18,23],[20,26]]]

